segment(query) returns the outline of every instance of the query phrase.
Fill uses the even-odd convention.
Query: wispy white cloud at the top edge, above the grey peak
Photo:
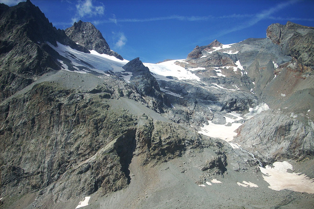
[[[75,7],[76,14],[72,18],[73,22],[76,22],[83,17],[103,15],[105,12],[105,6],[103,5],[103,3],[100,3],[100,6],[94,6],[93,0],[79,0],[78,4],[76,4]]]

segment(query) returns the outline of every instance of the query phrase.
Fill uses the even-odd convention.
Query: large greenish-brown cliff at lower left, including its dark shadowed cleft
[[[146,165],[202,147],[202,137],[182,126],[115,108],[114,98],[141,96],[132,85],[120,89],[121,81],[108,79],[85,93],[43,82],[0,105],[3,196],[36,191],[54,194],[54,201],[95,191],[103,196],[129,184],[133,153]]]

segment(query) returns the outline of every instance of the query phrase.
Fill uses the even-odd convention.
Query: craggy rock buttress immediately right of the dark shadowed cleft
[[[140,117],[136,132],[137,150],[141,165],[160,164],[170,159],[181,157],[188,149],[201,149],[202,137],[182,129],[181,125],[163,121],[155,121],[147,115]],[[165,128],[167,127],[167,128]],[[206,146],[206,145],[205,145]]]

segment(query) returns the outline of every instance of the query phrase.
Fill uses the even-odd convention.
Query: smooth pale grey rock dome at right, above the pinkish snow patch
[[[298,121],[278,110],[262,112],[236,132],[233,142],[268,164],[281,158],[302,159],[314,153],[313,122]]]

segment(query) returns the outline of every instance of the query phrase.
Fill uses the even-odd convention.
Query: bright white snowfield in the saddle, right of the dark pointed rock
[[[143,63],[144,66],[149,68],[150,72],[153,72],[155,78],[169,81],[171,79],[165,78],[166,76],[176,77],[179,80],[196,80],[200,81],[200,78],[190,72],[189,70],[176,65],[175,62],[184,62],[185,60],[170,60],[166,62],[160,62],[158,64],[153,63]]]

